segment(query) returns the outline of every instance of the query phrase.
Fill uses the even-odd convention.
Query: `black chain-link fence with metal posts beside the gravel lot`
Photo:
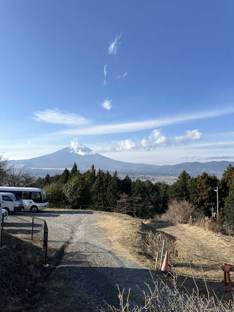
[[[46,221],[38,217],[4,216],[2,214],[0,247],[12,243],[12,237],[32,242],[45,250],[45,266],[47,266],[48,227]]]

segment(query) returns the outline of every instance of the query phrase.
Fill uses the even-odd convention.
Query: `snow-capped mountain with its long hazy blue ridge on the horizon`
[[[89,169],[94,164],[96,169],[109,170],[110,173],[117,170],[119,174],[124,175],[148,174],[154,176],[178,176],[183,170],[186,170],[191,176],[197,176],[204,171],[209,174],[221,176],[230,163],[228,161],[211,161],[207,163],[186,162],[161,166],[144,163],[126,163],[102,156],[85,145],[76,143],[44,156],[11,160],[10,165],[26,165],[27,171],[34,174],[45,175],[49,173],[53,175],[60,174],[65,168],[72,168],[74,162],[76,162],[77,168],[81,172]],[[234,164],[234,161],[231,163]]]

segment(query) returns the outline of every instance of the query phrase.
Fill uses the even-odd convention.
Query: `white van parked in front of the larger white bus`
[[[15,213],[24,210],[23,201],[13,193],[0,193],[2,195],[2,209],[7,210],[7,213]]]

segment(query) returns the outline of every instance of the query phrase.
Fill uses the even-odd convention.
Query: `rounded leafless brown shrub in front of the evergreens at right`
[[[194,218],[197,215],[198,212],[193,204],[186,200],[183,202],[173,200],[173,202],[168,205],[168,210],[162,215],[162,219],[165,220],[165,222],[186,223],[189,221],[190,216]]]

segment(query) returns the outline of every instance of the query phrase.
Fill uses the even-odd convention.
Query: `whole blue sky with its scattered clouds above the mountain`
[[[2,1],[0,152],[234,159],[232,1]]]

